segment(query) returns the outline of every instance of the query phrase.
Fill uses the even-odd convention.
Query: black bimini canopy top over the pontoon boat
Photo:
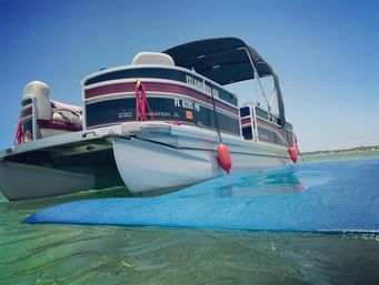
[[[255,69],[259,78],[272,75],[278,94],[280,125],[286,124],[285,105],[278,77],[261,55],[242,40],[218,38],[193,41],[163,51],[176,65],[195,71],[225,85],[248,79],[255,79]]]

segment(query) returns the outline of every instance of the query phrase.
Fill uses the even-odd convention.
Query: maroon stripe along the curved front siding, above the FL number
[[[144,82],[143,84],[144,84],[144,89],[147,92],[167,92],[167,93],[182,94],[182,95],[188,95],[199,101],[206,102],[208,104],[212,104],[212,99],[210,96],[207,96],[190,88],[171,84],[171,83],[158,83],[158,82]],[[89,99],[89,98],[101,96],[101,95],[107,95],[111,93],[134,92],[134,90],[136,90],[136,83],[133,82],[114,83],[114,84],[108,84],[108,85],[88,89],[84,91],[84,96],[86,99]],[[225,111],[228,111],[233,114],[238,114],[237,109],[233,109],[222,102],[215,100],[215,104],[216,106]]]

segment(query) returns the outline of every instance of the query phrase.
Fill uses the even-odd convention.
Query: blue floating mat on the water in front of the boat
[[[379,160],[266,169],[168,195],[50,206],[26,223],[379,232]]]

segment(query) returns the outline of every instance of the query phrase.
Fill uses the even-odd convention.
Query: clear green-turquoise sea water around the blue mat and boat
[[[376,159],[378,152],[311,157]],[[305,157],[310,161],[309,157]],[[0,284],[378,284],[379,235],[28,225],[39,201],[0,196]],[[379,210],[378,210],[379,211]]]

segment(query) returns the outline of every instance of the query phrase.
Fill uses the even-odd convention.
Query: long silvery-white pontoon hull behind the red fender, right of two
[[[169,192],[226,175],[218,163],[215,132],[208,133],[208,138],[205,132],[176,135],[174,129],[180,128],[186,131],[186,126],[170,126],[167,134],[149,136],[143,130],[142,139],[112,139],[117,167],[134,195]],[[228,136],[225,143],[231,154],[231,173],[290,163],[286,147],[249,142],[238,136]]]

